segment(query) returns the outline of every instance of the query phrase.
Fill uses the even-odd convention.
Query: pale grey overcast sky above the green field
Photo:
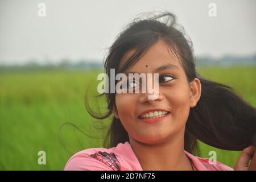
[[[38,16],[38,4],[46,17]],[[217,16],[208,15],[216,3]],[[255,0],[0,0],[0,63],[104,59],[121,28],[137,14],[168,10],[191,36],[196,55],[256,52]]]

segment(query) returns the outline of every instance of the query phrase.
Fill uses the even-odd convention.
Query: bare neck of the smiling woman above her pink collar
[[[192,170],[184,152],[184,132],[158,144],[144,144],[129,138],[144,171]]]

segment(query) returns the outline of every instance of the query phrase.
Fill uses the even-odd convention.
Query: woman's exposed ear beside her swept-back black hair
[[[201,82],[199,78],[195,78],[190,82],[190,107],[195,107],[201,97]]]

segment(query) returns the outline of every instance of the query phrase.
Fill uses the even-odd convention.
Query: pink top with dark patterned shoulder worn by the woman
[[[198,171],[232,171],[220,162],[209,164],[208,159],[199,158],[184,151]],[[119,143],[113,148],[89,148],[73,155],[65,171],[143,171],[129,142]]]

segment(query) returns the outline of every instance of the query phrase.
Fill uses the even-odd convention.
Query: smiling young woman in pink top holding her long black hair
[[[88,111],[98,119],[113,114],[107,146],[78,152],[65,170],[232,170],[194,156],[197,139],[225,150],[247,147],[235,169],[249,169],[256,109],[229,86],[196,72],[192,43],[175,15],[163,13],[129,24],[110,47],[105,69],[109,77],[110,69],[126,75],[158,73],[158,97],[105,93],[108,113],[99,117]],[[141,86],[129,76],[126,84],[127,89]],[[251,169],[254,164],[255,157]]]

